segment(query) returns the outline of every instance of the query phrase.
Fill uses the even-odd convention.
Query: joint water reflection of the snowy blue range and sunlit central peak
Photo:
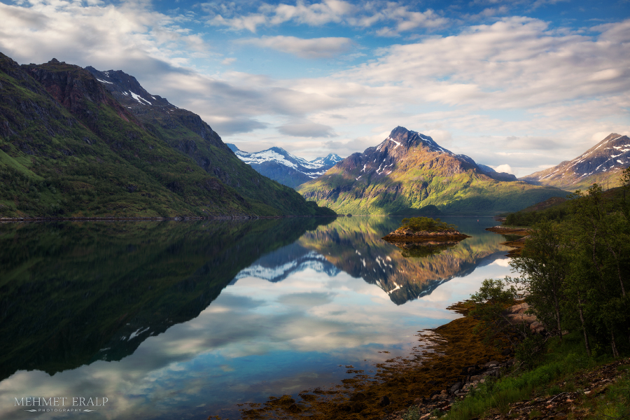
[[[339,218],[306,232],[295,244],[263,256],[235,279],[255,276],[281,281],[307,268],[329,276],[341,270],[379,286],[395,304],[404,304],[505,254],[505,246],[500,245],[503,239],[488,235],[486,225],[479,228],[473,218],[452,218],[460,230],[476,234],[460,242],[426,246],[391,244],[381,239],[398,228],[400,219]]]

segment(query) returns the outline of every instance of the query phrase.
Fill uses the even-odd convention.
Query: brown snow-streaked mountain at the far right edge
[[[565,190],[587,189],[593,183],[604,188],[619,186],[619,176],[630,165],[630,139],[616,133],[609,134],[584,154],[565,160],[552,168],[534,172],[521,179],[537,185],[554,186]]]

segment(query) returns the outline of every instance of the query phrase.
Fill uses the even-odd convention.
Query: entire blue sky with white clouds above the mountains
[[[630,134],[630,0],[0,0],[0,52],[123,70],[226,143],[346,157],[398,125],[525,176]]]

